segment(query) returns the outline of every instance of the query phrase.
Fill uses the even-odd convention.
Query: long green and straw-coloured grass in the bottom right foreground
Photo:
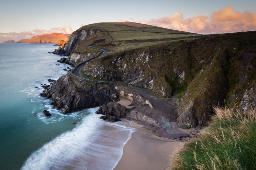
[[[170,157],[172,169],[256,169],[256,112],[215,108],[198,138]]]

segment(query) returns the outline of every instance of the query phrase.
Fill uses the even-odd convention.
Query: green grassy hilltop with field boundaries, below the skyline
[[[122,41],[147,40],[147,42],[171,40],[173,38],[186,38],[200,34],[171,30],[152,25],[135,22],[102,22],[85,25],[75,32],[81,30],[97,29],[99,32],[86,37],[80,42],[83,46],[100,44],[101,47],[113,48]],[[133,43],[133,42],[129,42]],[[80,45],[79,44],[79,45]],[[81,46],[81,45],[80,45]]]

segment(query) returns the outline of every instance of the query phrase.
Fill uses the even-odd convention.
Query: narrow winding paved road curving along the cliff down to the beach
[[[91,48],[98,48],[98,47],[91,47]],[[99,57],[102,54],[108,53],[109,50],[103,49],[103,48],[98,48],[101,49],[102,52],[97,56]],[[96,57],[96,58],[97,58]],[[93,59],[93,58],[92,58]],[[90,59],[90,60],[92,60]],[[146,98],[147,100],[149,100],[151,102],[151,104],[153,105],[153,109],[161,112],[162,114],[165,115],[166,118],[169,119],[169,121],[171,122],[175,122],[176,118],[177,118],[177,113],[175,111],[175,107],[167,102],[166,100],[159,98],[157,95],[155,95],[154,93],[152,93],[149,90],[143,89],[143,88],[139,88],[136,86],[131,86],[128,84],[124,84],[124,83],[120,83],[120,82],[111,82],[111,81],[104,81],[104,80],[95,80],[95,79],[91,79],[89,77],[84,76],[81,73],[81,70],[84,66],[86,66],[90,60],[87,60],[83,63],[78,64],[72,71],[71,73],[73,73],[74,75],[81,77],[82,79],[86,79],[86,80],[90,80],[90,81],[94,81],[94,82],[108,82],[108,83],[115,83],[115,84],[120,84],[124,87],[127,87],[133,91],[135,91],[136,93],[138,93],[140,96]]]

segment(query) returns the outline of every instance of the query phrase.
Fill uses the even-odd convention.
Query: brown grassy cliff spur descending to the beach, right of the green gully
[[[223,68],[227,66],[226,58],[225,51],[216,53],[210,64],[201,69],[188,85],[177,107],[177,122],[184,128],[205,125],[212,114],[212,106],[224,106],[227,81]]]

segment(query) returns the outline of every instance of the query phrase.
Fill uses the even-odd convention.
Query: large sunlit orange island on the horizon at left
[[[32,44],[57,43],[59,40],[66,41],[70,35],[71,34],[61,34],[61,33],[36,35],[30,39],[22,39],[20,41],[17,41],[16,43],[32,43]],[[9,40],[9,41],[11,41],[11,40]]]

